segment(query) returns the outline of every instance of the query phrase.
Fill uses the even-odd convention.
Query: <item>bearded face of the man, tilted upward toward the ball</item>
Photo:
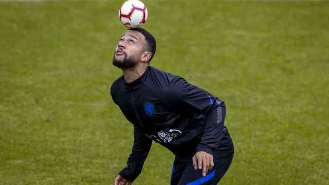
[[[144,42],[144,35],[138,31],[124,32],[114,52],[113,65],[123,69],[134,67],[140,61]]]

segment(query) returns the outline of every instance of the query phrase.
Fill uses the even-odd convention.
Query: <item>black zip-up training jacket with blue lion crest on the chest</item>
[[[198,151],[228,156],[233,144],[224,126],[224,102],[185,79],[149,66],[137,80],[123,76],[111,86],[113,101],[134,125],[134,144],[119,174],[135,180],[152,140],[167,147],[177,160],[192,160]]]

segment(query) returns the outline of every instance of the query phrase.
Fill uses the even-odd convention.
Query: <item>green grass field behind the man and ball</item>
[[[109,95],[124,1],[0,2],[0,184],[114,184],[132,125]],[[329,184],[329,1],[145,0],[151,65],[227,104],[221,184]],[[169,184],[153,144],[134,184]]]

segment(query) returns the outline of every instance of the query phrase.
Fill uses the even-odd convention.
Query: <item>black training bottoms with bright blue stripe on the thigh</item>
[[[194,170],[191,161],[179,161],[175,159],[171,174],[171,185],[198,185],[217,184],[231,165],[233,154],[227,157],[216,158],[214,156],[214,168],[204,177],[202,170]]]

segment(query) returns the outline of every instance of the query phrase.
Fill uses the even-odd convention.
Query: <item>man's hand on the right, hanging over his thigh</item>
[[[193,158],[194,170],[202,169],[202,175],[206,176],[209,170],[214,168],[214,157],[204,151],[197,152]]]

